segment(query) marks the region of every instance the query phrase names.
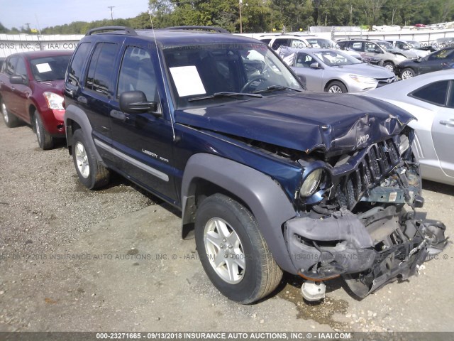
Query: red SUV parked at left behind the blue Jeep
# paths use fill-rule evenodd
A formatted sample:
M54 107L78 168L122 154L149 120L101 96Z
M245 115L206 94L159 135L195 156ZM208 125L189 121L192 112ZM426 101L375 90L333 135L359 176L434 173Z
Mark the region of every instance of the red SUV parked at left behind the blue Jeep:
M0 71L0 107L6 126L33 126L38 144L50 149L65 137L63 80L72 51L45 50L9 55Z

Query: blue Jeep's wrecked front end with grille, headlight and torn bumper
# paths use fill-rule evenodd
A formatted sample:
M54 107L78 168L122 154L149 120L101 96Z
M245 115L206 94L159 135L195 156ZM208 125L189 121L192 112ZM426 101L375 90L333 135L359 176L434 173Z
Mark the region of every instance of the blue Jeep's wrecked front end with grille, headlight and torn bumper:
M284 225L294 266L309 281L343 276L360 298L416 274L445 247L445 226L423 206L419 164L408 127L384 141L323 161L301 158L303 209ZM365 140L365 139L364 139ZM362 137L358 145L362 144ZM315 161L317 160L317 161Z

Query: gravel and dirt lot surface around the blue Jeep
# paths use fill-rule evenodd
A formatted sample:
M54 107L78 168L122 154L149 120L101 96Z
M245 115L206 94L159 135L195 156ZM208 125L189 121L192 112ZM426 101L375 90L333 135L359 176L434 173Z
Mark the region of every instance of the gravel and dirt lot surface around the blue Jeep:
M62 143L0 124L0 331L454 331L452 244L420 276L362 301L340 280L304 303L284 276L255 305L211 286L179 212L117 176L86 190ZM426 183L424 210L453 235L454 188Z

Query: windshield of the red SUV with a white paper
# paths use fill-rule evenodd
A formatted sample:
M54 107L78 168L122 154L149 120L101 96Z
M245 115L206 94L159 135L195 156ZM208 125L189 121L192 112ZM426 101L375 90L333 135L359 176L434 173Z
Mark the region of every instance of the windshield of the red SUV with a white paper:
M32 59L30 66L33 78L38 81L64 80L70 58L71 55L54 55L52 57Z

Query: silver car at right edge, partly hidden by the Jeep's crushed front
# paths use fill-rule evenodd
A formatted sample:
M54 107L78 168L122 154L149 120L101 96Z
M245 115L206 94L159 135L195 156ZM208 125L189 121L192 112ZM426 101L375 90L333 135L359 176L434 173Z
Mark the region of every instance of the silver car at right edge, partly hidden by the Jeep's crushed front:
M397 105L416 117L413 151L421 163L422 177L454 185L454 70L413 77L365 92Z

